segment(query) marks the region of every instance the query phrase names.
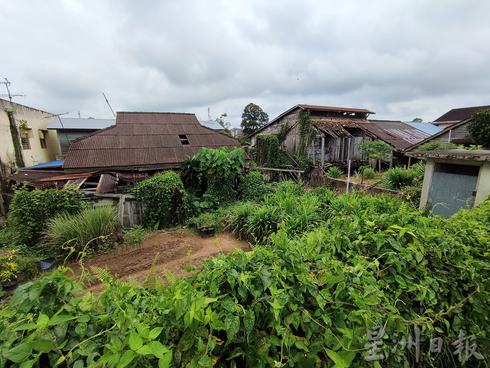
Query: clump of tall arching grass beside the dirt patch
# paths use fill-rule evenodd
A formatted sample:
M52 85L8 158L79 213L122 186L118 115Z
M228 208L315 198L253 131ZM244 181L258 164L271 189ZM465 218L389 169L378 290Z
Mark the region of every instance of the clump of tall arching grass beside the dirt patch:
M98 251L98 246L107 238L113 240L117 222L114 206L87 208L74 215L63 213L49 220L44 234L47 242L54 246L74 246L80 250L89 245Z

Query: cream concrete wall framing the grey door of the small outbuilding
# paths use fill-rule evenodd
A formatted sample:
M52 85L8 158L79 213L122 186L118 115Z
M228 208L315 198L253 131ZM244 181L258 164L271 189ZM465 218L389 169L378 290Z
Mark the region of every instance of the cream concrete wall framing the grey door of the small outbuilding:
M490 162L489 161L427 158L427 162L425 164L425 175L424 175L424 182L422 185L422 193L420 195L420 209L424 208L429 198L432 176L434 174L434 167L437 162L445 163L445 164L480 166L478 180L476 183L476 196L474 198L473 205L475 206L478 203L483 202L490 195ZM448 193L448 196L450 195L451 194Z

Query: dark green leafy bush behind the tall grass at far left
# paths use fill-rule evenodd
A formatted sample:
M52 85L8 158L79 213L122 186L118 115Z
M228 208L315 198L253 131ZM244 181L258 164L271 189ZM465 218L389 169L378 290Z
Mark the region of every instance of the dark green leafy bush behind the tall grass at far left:
M62 212L77 213L85 206L82 197L79 190L72 188L30 191L23 186L15 190L6 227L0 231L0 246L36 245L45 221Z

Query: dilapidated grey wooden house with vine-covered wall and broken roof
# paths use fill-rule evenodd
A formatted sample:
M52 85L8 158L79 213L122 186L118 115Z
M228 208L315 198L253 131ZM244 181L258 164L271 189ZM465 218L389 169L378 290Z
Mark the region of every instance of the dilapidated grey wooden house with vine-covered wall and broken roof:
M349 159L361 162L362 152L356 144L366 141L384 141L403 150L429 136L400 121L368 120L374 112L367 109L296 105L252 133L251 145L255 145L258 135L279 133L282 127L281 149L291 154L300 153L299 114L303 110L309 110L311 127L315 130L314 138L306 143L305 154L322 166L325 163L342 165Z

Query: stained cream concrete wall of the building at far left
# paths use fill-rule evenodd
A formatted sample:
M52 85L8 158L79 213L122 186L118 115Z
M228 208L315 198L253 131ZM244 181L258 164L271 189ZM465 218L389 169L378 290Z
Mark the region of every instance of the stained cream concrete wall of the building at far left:
M28 139L30 149L22 149L25 166L34 166L38 163L53 161L59 153L58 137L53 130L47 130L48 125L53 118L50 113L27 107L15 102L10 102L0 98L0 159L3 165L15 165L14 145L12 143L12 134L10 132L10 122L5 109L14 111L14 117L17 120L24 119L29 127ZM41 148L39 130L45 131L46 146ZM22 147L22 145L21 145ZM33 162L31 156L41 156L39 162ZM10 173L7 173L10 174Z

